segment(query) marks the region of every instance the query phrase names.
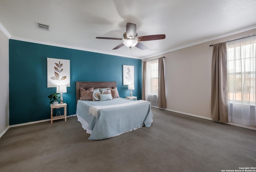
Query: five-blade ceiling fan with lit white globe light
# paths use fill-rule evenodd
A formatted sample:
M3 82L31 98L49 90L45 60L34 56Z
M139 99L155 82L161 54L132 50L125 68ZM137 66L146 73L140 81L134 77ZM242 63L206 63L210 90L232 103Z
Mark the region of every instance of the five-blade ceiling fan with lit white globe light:
M136 33L136 24L133 23L127 23L126 24L126 32L123 34L124 39L122 38L108 38L108 37L96 37L97 39L106 39L106 40L123 40L121 44L117 45L113 49L118 49L124 45L126 47L137 47L139 49L147 49L147 47L140 43L140 41L152 41L152 40L162 40L165 39L165 35L148 35L148 36L139 36L137 37Z

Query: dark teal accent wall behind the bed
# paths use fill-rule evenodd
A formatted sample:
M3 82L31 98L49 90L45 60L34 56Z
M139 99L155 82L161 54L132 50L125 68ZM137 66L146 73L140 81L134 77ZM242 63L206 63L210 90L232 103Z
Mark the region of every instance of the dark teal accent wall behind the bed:
M113 50L114 51L114 50ZM134 96L141 99L141 59L9 40L10 125L50 119L47 57L70 60L70 87L63 93L67 115L76 114L76 81L116 81L120 97L130 95L122 85L122 65L134 66Z

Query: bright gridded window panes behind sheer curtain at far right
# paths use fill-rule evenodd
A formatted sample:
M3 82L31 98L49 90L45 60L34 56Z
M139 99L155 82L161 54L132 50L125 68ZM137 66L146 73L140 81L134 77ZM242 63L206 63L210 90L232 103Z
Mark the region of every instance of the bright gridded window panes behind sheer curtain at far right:
M255 102L256 43L227 43L228 99Z

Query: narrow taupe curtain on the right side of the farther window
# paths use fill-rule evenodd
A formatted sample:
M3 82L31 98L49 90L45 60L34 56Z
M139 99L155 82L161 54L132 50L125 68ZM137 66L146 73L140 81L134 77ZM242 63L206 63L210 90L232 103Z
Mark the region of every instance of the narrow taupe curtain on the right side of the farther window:
M166 108L165 81L164 81L164 57L158 59L158 107Z

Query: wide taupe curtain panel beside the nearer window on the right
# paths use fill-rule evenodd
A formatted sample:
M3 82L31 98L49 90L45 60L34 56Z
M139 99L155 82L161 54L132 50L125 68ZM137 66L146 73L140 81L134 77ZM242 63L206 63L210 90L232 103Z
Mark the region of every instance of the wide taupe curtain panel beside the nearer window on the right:
M213 121L228 122L226 42L213 45L211 113Z

